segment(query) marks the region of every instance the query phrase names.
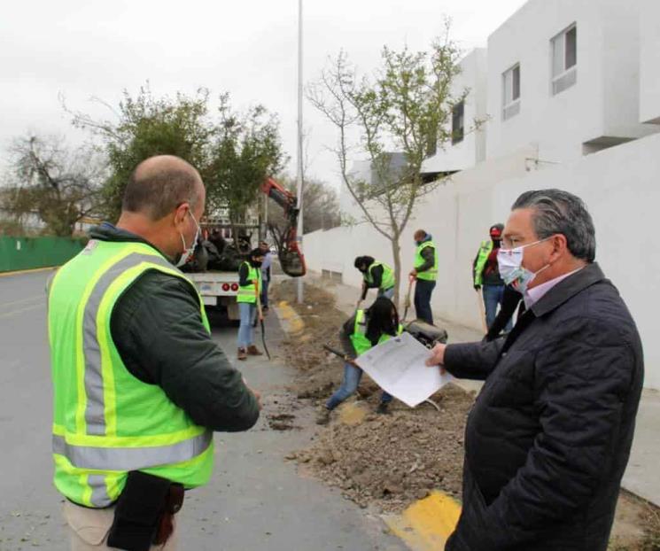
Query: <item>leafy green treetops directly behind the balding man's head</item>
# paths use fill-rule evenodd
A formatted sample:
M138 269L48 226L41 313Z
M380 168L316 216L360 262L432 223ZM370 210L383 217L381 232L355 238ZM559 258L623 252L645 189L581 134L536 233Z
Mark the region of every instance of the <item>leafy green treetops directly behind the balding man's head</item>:
M206 184L207 211L229 206L240 221L260 183L281 167L279 124L262 106L234 113L229 95L220 98L218 117L210 113L209 92L154 97L149 86L136 97L124 91L117 120L74 114L74 125L101 136L111 168L104 185L105 216L119 216L121 198L133 169L153 155L176 155L196 167ZM112 107L111 107L112 109Z

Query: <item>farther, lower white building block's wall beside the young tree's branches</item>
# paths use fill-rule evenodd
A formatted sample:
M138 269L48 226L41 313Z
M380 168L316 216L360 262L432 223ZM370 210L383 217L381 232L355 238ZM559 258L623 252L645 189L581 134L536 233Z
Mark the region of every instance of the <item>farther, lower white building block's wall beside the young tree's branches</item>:
M468 91L463 112L465 136L458 144L444 144L444 149L426 159L423 172L454 172L474 167L485 159L485 130L475 127L476 121L484 120L486 116L486 63L485 48L470 51L459 63L461 74L452 82L451 94L460 97L465 90ZM452 131L451 117L446 131Z

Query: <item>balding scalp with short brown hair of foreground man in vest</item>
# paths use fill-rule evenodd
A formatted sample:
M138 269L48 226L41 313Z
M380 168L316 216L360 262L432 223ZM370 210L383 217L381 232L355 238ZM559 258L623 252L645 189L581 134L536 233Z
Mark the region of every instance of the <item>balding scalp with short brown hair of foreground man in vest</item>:
M194 209L203 193L204 183L190 163L173 155L159 155L137 165L128 178L121 209L157 221L182 203L190 203Z

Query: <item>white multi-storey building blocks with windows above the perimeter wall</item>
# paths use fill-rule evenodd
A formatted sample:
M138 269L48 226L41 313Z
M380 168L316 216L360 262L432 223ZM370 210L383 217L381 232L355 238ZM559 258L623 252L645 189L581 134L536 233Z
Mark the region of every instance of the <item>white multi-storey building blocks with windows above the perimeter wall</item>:
M660 2L530 0L462 59L465 138L424 164L453 172L532 147L536 167L655 134ZM487 120L470 132L474 120ZM454 120L455 126L455 120ZM455 131L455 128L454 128Z

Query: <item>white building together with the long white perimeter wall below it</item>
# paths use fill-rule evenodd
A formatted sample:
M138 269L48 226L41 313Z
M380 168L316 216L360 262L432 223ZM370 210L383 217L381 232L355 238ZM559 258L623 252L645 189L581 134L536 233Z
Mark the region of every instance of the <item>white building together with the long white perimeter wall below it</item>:
M485 136L466 131L427 159L429 173L455 174L415 206L400 239L404 270L416 228L441 238L432 307L480 330L471 266L489 226L506 221L526 190L569 190L589 207L596 260L640 330L644 384L660 390L652 300L660 296L652 276L660 270L660 0L530 0L462 68L454 93L470 89L463 128L486 113ZM369 224L317 231L305 243L311 270L339 272L356 287L355 256L393 260L389 241Z

